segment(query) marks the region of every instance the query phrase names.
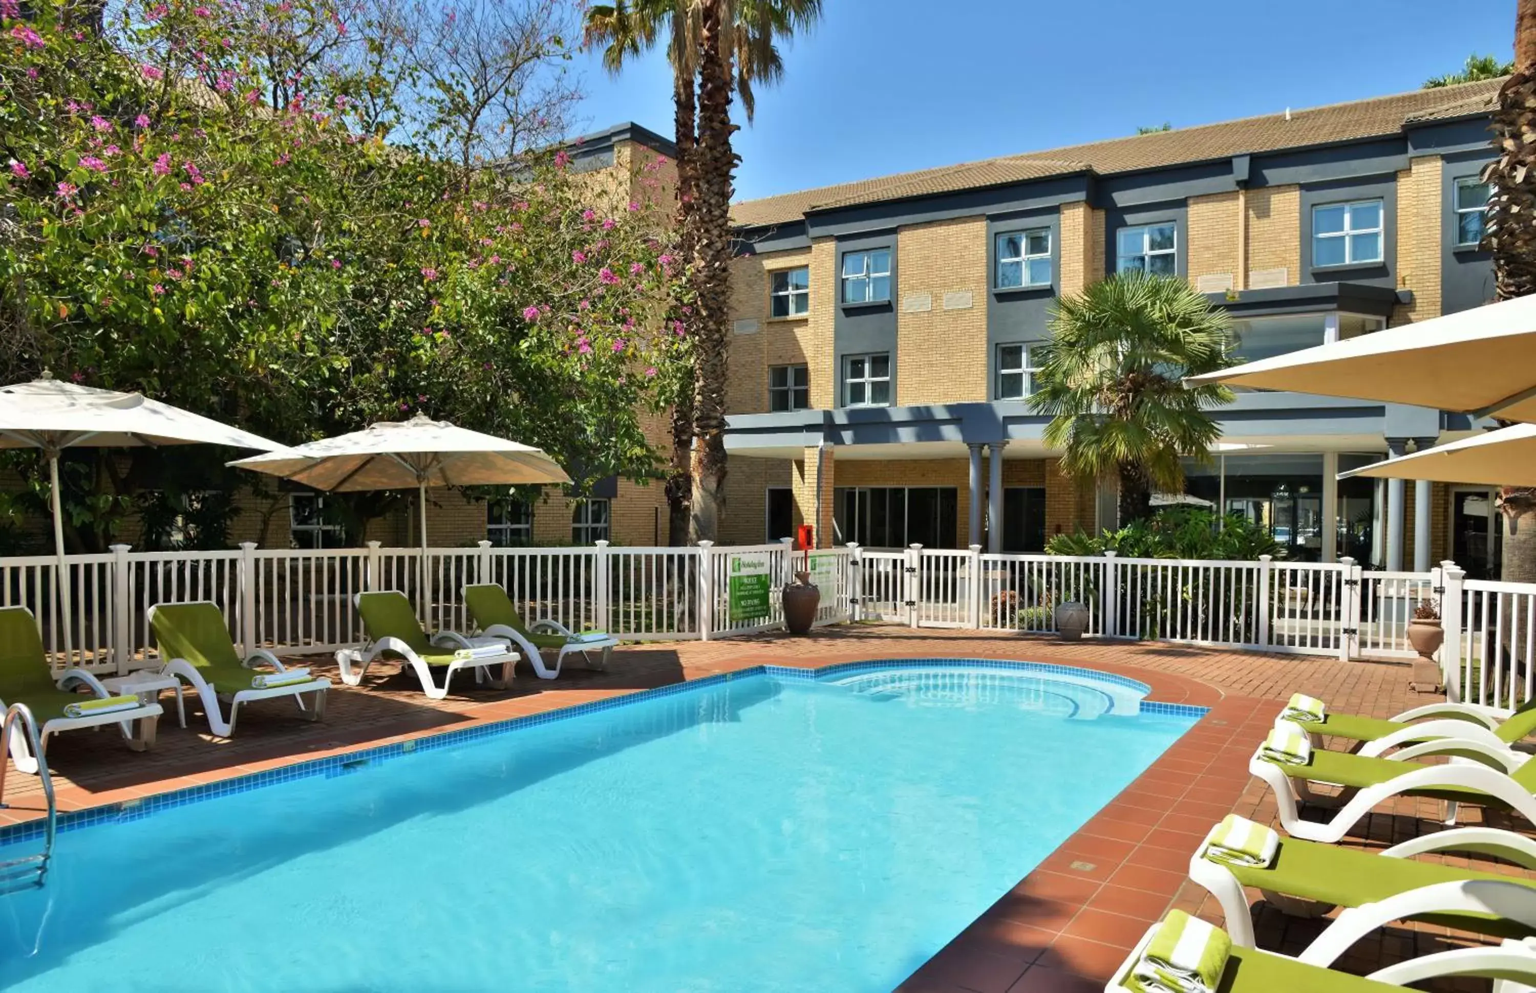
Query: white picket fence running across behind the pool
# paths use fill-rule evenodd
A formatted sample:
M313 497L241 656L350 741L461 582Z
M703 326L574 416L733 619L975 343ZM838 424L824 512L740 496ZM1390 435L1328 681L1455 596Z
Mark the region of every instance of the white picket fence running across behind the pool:
M1407 625L1435 603L1439 661L1459 698L1518 706L1536 685L1536 585L1467 580L1455 563L1430 572L1338 563L1206 562L969 549L900 551L856 545L803 557L788 543L693 548L260 549L69 556L74 665L129 671L154 665L144 611L212 600L244 646L326 652L362 640L353 605L367 589L399 589L432 628L470 626L468 583L499 583L530 620L610 631L624 640L714 638L783 625L780 588L809 566L822 589L816 623L882 620L912 628L1048 634L1055 608L1087 608L1089 637L1332 655L1413 658ZM63 623L49 556L0 559L0 606L38 617L55 665ZM748 592L751 591L751 592Z

